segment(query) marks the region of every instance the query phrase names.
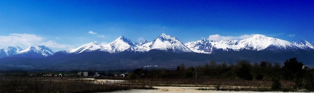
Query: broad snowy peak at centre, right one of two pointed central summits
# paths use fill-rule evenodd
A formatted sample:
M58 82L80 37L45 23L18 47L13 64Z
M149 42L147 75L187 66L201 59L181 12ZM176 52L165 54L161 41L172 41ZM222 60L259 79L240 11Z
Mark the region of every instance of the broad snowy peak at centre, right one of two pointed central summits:
M149 47L150 49L166 50L172 52L192 52L177 38L166 35L165 33L157 37Z

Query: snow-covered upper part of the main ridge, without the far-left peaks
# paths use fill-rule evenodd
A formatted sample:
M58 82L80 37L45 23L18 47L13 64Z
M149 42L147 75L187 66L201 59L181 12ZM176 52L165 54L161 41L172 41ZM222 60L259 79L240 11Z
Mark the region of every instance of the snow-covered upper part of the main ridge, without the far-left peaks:
M195 52L212 54L215 50L222 49L223 51L241 51L241 50L275 50L275 51L296 51L298 49L313 50L314 43L306 40L300 42L288 42L285 40L267 37L265 35L254 35L251 38L244 40L233 41L209 41L202 39L195 42L183 44L177 38L166 34L161 34L153 41L143 41L133 43L124 36L120 36L110 44L101 45L98 42L92 42L81 47L69 50L63 50L66 53L82 53L92 51L105 51L110 53L120 53L123 51L130 52L148 52L150 50L163 50L177 53Z

